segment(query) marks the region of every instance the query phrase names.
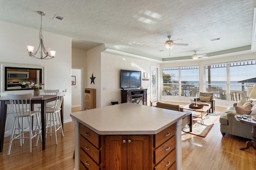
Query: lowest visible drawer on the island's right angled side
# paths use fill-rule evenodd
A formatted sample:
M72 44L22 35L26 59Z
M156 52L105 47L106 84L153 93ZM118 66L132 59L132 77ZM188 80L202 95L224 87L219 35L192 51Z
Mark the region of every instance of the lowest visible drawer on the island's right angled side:
M176 170L176 149L172 150L165 158L159 162L154 170Z

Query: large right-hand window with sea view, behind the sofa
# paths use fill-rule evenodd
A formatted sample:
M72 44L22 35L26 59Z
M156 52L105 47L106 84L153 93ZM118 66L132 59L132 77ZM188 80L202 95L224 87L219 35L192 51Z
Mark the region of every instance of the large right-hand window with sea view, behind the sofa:
M239 101L247 98L248 87L256 82L256 61L205 66L206 92L220 100Z

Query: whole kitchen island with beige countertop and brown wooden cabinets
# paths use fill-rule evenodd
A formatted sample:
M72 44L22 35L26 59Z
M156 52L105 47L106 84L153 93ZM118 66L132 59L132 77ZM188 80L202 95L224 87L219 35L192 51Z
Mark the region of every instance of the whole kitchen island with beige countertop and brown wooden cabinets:
M71 113L75 170L182 169L186 113L123 103Z

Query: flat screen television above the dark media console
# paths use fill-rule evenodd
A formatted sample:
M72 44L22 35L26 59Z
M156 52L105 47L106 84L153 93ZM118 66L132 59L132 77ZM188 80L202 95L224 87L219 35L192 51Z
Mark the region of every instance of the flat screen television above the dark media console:
M121 70L121 88L138 88L141 86L141 71Z

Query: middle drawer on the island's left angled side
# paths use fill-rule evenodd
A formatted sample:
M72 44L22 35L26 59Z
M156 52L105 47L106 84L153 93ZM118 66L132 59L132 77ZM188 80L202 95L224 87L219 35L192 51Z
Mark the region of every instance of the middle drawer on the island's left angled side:
M80 135L80 147L98 164L100 164L100 150Z

